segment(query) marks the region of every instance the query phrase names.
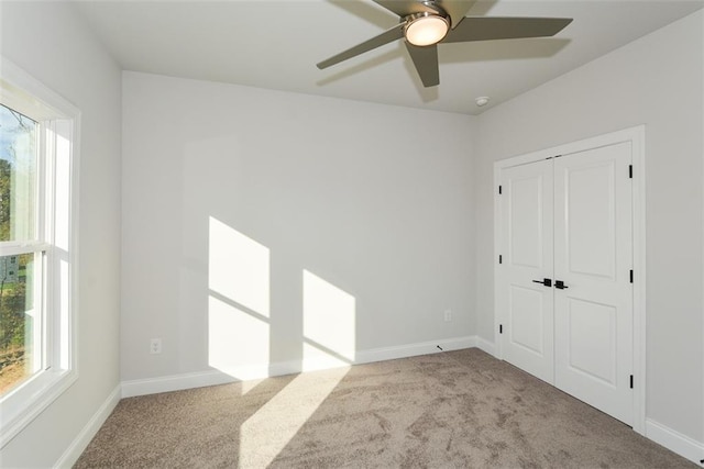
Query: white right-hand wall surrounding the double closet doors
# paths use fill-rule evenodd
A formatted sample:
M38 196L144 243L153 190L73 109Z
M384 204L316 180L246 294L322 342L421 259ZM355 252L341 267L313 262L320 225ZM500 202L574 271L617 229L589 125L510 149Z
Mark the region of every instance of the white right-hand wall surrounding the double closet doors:
M485 112L474 178L477 333L493 340L494 161L646 124L647 417L698 442L704 442L702 30L698 12Z

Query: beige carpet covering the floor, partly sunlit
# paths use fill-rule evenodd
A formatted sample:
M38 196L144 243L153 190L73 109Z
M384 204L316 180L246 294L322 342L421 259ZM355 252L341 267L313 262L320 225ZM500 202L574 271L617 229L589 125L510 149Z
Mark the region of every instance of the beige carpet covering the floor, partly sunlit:
M696 466L466 349L124 399L76 467Z

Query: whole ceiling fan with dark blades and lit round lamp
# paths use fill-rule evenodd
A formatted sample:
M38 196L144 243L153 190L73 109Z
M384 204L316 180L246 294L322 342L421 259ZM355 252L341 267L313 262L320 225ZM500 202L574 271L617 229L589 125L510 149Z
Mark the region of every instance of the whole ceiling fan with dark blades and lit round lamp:
M403 37L424 86L435 87L440 83L439 43L553 36L572 22L571 18L465 16L476 0L373 1L396 13L400 22L369 41L322 60L317 64L318 68L328 68Z

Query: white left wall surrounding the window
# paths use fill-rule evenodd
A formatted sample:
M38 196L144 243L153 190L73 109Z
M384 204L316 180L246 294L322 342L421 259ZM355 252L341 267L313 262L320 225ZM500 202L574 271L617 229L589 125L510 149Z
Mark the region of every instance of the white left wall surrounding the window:
M3 467L48 467L119 381L120 70L58 2L2 2L0 53L81 111L79 378L0 453Z

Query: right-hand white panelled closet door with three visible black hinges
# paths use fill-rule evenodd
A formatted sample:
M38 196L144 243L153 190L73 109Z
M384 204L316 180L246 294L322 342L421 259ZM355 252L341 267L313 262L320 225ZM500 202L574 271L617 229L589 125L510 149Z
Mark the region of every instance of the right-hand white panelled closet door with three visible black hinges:
M629 425L630 155L626 142L554 159L556 386Z

